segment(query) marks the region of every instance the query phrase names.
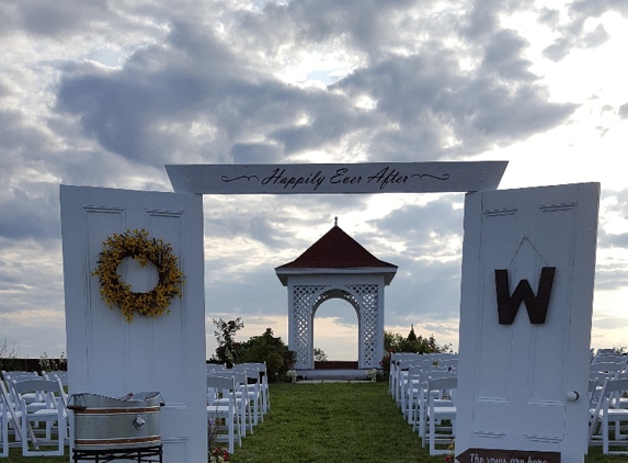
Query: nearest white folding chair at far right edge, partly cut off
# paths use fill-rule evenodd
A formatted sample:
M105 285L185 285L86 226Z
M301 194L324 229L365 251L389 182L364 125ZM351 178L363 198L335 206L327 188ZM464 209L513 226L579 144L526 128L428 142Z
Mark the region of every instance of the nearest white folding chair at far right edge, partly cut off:
M628 454L628 434L623 434L621 422L628 421L628 409L621 408L619 398L628 391L628 379L616 380L607 377L604 380L600 400L589 428L589 443L600 444L602 442L602 453L607 454ZM597 425L600 424L600 434L596 434ZM613 426L614 436L610 431ZM621 448L621 450L612 451L610 448Z

